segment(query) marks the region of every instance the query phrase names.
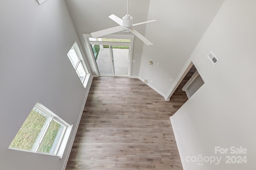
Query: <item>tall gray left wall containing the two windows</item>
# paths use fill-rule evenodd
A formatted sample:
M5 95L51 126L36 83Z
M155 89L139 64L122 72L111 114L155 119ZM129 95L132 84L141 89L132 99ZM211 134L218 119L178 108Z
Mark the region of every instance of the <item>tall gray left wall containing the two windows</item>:
M88 92L67 57L79 39L65 1L2 0L0 21L0 169L60 170ZM8 149L36 102L74 124L62 159Z

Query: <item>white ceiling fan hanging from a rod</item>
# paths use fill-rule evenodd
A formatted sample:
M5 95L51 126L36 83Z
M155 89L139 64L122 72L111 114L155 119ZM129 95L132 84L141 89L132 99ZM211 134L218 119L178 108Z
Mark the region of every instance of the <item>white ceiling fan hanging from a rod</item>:
M139 39L141 39L146 45L153 45L150 41L148 41L148 39L146 39L138 31L133 29L132 26L141 25L141 24L145 24L145 23L150 23L150 22L154 22L154 21L157 21L157 20L150 20L150 21L145 21L145 22L140 22L140 23L133 24L132 23L133 18L132 18L132 16L130 16L128 14L128 4L129 4L129 0L127 0L127 14L122 19L119 18L118 16L114 15L114 14L112 14L111 16L108 16L110 19L112 19L113 21L118 23L119 26L108 28L108 29L103 29L101 31L93 32L93 33L91 33L92 37L93 38L98 38L98 37L102 37L104 35L116 33L116 32L119 32L119 31L132 32Z

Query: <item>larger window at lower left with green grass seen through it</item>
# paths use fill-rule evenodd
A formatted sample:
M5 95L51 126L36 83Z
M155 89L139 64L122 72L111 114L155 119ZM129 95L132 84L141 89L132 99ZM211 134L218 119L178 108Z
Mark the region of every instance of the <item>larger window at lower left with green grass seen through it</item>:
M66 123L36 104L9 148L56 155L66 128Z

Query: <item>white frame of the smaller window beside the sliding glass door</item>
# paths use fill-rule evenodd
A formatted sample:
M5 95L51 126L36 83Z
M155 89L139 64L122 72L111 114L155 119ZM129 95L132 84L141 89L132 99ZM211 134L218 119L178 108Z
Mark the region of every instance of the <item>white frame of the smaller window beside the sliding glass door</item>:
M72 45L71 49L72 49L72 48L73 48L74 51L75 51L75 54L76 54L76 57L78 58L78 61L77 61L77 63L76 63L75 65L73 65L73 63L72 63L72 61L71 61L71 57L70 57L70 55L69 55L69 52L68 52L68 54L67 54L67 55L68 55L68 59L70 60L72 66L74 66L74 69L76 70L76 74L78 75L79 79L80 79L80 76L79 76L79 73L78 73L77 68L78 68L79 64L82 64L82 68L83 68L83 70L84 70L84 72L85 72L85 76L84 76L84 78L83 78L82 80L80 79L80 81L81 81L82 84L84 85L84 88L86 88L86 85L87 85L87 83L88 83L90 74L89 74L89 72L88 72L88 69L87 69L86 64L85 64L85 62L84 62L84 60L83 60L83 57L82 57L82 53L81 53L81 51L80 51L80 49L79 49L78 44L77 44L76 41L75 41L74 44ZM71 49L70 49L70 50L71 50Z

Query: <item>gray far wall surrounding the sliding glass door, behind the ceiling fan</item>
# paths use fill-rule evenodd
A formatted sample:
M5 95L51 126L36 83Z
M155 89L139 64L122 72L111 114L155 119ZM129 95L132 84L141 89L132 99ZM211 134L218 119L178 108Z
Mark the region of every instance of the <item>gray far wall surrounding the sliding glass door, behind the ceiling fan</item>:
M115 14L122 18L126 15L127 10L126 0L66 0L66 3L83 47L86 46L82 36L83 33L91 33L117 26L118 24L108 18L108 16ZM150 0L129 1L129 14L133 17L134 23L147 20L149 3ZM144 35L146 25L138 25L134 28ZM124 33L122 31L114 34L133 35L132 33ZM134 37L133 60L136 60L136 63L132 63L132 76L138 77L139 75L142 48L143 42ZM85 48L84 51L86 56L89 57L90 52ZM92 66L91 69L93 74L95 74Z

